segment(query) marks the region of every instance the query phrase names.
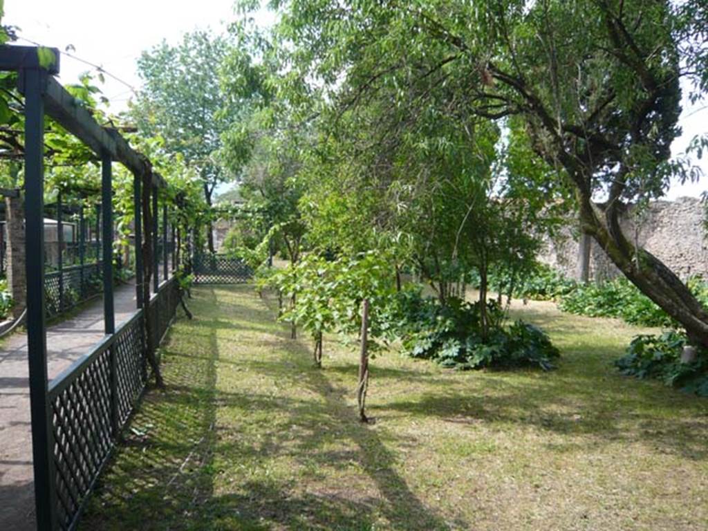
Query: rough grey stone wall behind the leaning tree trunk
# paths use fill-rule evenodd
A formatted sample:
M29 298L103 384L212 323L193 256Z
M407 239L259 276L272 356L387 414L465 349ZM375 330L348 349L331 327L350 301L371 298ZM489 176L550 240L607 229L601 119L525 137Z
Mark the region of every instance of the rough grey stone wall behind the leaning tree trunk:
M635 215L632 210L627 212L622 219L622 227L628 238L636 238L640 246L661 259L680 278L694 275L708 278L704 209L705 205L697 198L655 201L641 215ZM547 241L539 259L561 270L569 278L578 278L578 251L578 229L569 225L561 237ZM590 278L603 280L617 275L619 270L593 240Z

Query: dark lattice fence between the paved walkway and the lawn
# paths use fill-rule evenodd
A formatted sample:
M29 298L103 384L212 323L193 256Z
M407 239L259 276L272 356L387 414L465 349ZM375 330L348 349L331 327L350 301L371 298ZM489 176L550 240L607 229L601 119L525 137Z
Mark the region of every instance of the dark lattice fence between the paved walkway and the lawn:
M152 297L157 343L176 313L178 284L164 282ZM144 312L138 310L112 336L52 381L52 454L59 529L72 530L86 496L115 447L147 382L142 341Z

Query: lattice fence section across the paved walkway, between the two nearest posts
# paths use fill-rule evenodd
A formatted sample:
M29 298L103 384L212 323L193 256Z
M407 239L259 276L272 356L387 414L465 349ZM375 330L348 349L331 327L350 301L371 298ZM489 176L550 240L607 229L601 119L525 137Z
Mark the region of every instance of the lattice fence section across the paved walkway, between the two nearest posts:
M61 273L45 273L47 314L55 316L101 293L101 263L73 265Z

